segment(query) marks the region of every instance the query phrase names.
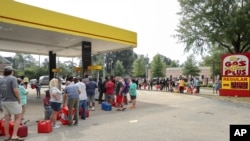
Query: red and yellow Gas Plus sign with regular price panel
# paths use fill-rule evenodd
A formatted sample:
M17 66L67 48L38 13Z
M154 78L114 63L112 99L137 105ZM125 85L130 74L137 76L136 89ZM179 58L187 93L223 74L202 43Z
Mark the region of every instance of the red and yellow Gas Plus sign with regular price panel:
M250 96L250 53L222 55L220 95Z

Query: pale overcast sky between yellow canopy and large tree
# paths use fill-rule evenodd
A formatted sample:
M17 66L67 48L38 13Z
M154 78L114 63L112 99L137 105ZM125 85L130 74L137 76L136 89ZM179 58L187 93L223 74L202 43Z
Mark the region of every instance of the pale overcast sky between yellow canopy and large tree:
M179 22L177 0L18 0L33 6L137 32L137 54L157 53L186 60L182 44L171 37ZM1 53L2 54L2 53Z

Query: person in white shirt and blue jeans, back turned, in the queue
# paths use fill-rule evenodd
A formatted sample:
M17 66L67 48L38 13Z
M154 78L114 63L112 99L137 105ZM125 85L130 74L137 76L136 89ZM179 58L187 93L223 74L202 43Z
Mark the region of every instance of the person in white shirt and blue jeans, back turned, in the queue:
M79 95L79 109L82 109L81 119L85 120L87 115L87 92L85 83L79 81L78 78L74 79L75 84L78 86L78 89L81 91Z

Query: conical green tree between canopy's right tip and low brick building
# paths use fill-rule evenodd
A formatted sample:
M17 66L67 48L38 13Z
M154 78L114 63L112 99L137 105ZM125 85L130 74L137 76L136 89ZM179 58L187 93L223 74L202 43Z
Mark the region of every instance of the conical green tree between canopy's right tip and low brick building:
M166 76L166 63L160 54L154 56L151 62L152 77L164 77Z

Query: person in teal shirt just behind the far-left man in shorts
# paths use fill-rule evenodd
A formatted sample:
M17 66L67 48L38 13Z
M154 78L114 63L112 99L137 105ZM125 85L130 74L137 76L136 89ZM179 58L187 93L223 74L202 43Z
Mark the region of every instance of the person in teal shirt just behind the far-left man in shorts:
M22 105L22 120L23 120L24 119L24 113L25 113L25 105L27 104L28 91L25 90L25 88L22 86L22 81L23 80L21 78L17 78L18 90L19 90L21 105Z

